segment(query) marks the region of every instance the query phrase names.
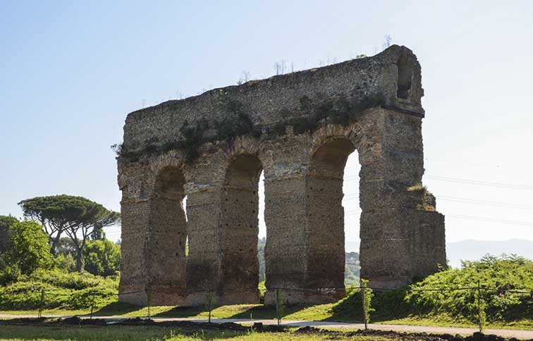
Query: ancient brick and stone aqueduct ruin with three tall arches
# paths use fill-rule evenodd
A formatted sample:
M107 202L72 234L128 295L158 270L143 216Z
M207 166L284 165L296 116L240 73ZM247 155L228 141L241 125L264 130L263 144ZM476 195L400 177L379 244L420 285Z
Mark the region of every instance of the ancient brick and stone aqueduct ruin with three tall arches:
M419 184L417 58L391 46L128 115L118 156L121 301L257 303L264 171L267 304L345 295L343 173L358 151L361 276L398 287L446 264L444 216ZM418 185L418 186L417 186ZM187 196L187 207L183 204ZM188 255L185 241L188 239Z

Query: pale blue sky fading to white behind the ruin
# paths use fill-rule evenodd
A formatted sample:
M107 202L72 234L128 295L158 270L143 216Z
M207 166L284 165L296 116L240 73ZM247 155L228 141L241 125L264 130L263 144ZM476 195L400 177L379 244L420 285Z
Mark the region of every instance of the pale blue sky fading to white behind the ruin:
M119 210L109 146L128 112L233 85L243 70L269 77L282 59L303 69L372 55L391 35L422 63L424 183L448 241L533 240L533 1L430 2L1 1L0 214L61 193ZM345 193L357 194L357 181ZM357 241L357 214L346 221Z

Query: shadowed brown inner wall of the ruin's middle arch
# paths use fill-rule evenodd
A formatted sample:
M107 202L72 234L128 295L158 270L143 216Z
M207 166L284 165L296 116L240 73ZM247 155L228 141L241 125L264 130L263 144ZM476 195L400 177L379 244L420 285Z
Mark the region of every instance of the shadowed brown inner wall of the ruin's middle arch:
M257 156L235 156L226 171L221 220L222 302L259 302L259 177L262 163Z

